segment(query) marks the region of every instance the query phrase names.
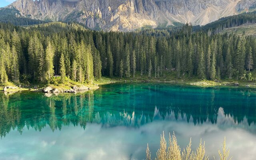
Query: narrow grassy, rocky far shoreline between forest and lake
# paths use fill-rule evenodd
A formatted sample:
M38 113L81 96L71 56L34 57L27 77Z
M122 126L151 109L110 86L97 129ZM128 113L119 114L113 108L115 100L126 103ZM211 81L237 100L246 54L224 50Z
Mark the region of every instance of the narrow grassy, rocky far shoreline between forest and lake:
M16 92L22 91L30 91L30 92L42 92L45 93L46 96L52 96L53 94L58 95L61 93L84 93L90 90L94 91L100 88L102 85L112 84L112 83L162 83L162 84L177 84L182 86L194 86L200 88L241 88L241 89L256 89L256 83L254 82L239 82L239 81L223 81L223 82L214 82L210 80L160 80L160 79L136 79L136 78L100 78L96 79L92 84L76 84L76 85L58 85L55 86L54 84L45 85L43 87L38 87L37 84L31 84L27 87L18 87L18 86L1 86L0 92L4 92L7 94L13 94ZM84 87L87 89L82 90L74 90L74 87ZM4 91L4 88L7 87L7 90ZM9 87L9 88L8 88ZM49 91L44 92L45 88L52 88ZM54 90L57 90L57 92ZM48 95L47 95L48 94Z

